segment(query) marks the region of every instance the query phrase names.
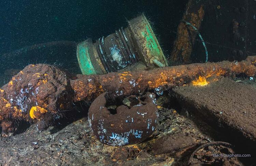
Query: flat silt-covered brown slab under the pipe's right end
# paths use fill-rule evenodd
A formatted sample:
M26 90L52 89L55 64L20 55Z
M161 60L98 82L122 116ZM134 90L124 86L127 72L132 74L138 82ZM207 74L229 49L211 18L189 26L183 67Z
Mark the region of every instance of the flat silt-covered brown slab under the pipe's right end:
M222 78L200 88L175 87L171 94L183 109L225 133L225 141L246 147L247 153L255 153L256 88L253 85Z

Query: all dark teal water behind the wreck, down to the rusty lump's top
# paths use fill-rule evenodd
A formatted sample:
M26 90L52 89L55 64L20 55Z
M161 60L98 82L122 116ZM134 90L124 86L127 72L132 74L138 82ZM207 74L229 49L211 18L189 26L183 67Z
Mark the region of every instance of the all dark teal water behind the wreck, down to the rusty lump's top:
M24 51L51 41L95 41L144 13L168 58L188 0L1 0L0 85L28 64L47 63L81 73L76 45ZM18 51L17 51L18 50Z

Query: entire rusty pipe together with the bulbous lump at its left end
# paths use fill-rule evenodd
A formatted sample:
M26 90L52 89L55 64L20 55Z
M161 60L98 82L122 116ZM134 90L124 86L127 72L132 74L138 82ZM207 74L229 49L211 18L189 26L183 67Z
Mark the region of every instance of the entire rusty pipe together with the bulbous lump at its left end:
M115 98L174 86L205 85L219 76L256 74L256 56L241 62L196 63L153 70L112 72L105 75L71 75L55 66L28 65L0 89L3 132L15 130L15 120L38 122L39 130L73 109L73 103L91 102L104 92Z

